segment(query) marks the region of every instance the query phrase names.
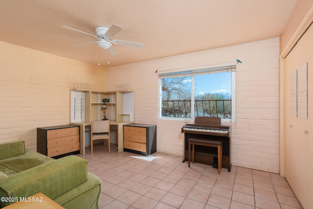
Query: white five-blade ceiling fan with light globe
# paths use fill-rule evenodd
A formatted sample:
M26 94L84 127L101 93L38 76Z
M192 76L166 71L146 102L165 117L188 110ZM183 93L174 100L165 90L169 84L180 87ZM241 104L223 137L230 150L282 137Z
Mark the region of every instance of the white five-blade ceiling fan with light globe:
M80 32L80 33L83 33L83 34L86 34L86 35L89 35L89 36L91 36L93 38L98 39L98 41L87 42L87 43L84 43L84 44L75 45L73 47L96 43L97 46L99 46L100 48L108 49L111 55L116 55L117 54L117 51L112 46L112 44L124 45L124 46L132 46L132 47L136 47L136 48L141 48L142 47L142 44L135 43L135 42L115 40L115 39L111 40L111 38L116 33L118 33L119 31L121 31L123 29L122 27L118 26L117 24L112 24L110 28L107 28L107 27L96 27L95 28L96 35L92 35L90 33L86 33L84 31L77 30L75 28L71 28L71 27L68 27L68 26L65 26L65 25L62 25L62 27L65 27L67 29L74 30L76 32Z

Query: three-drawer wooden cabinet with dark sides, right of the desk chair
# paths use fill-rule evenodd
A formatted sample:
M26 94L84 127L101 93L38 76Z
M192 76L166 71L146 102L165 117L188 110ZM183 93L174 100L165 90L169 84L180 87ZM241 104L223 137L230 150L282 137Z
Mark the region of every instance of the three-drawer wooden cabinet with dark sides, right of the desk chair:
M145 156L156 152L156 125L124 125L124 151Z

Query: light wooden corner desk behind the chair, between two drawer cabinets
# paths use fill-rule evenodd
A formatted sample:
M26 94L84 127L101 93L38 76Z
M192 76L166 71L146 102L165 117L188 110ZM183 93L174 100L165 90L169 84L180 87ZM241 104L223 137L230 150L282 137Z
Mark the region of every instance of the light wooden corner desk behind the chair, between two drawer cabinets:
M112 127L112 126L117 127L117 152L123 152L124 151L123 126L128 125L128 124L132 124L132 123L134 123L134 122L110 120L110 127ZM80 154L85 155L86 126L90 126L91 122L89 122L89 121L71 122L70 124L80 126Z

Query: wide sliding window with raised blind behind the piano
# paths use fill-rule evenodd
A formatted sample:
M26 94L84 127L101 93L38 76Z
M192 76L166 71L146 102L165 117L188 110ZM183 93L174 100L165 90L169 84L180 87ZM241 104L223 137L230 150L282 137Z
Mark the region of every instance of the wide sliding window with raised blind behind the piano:
M221 117L234 121L236 66L159 73L160 118Z

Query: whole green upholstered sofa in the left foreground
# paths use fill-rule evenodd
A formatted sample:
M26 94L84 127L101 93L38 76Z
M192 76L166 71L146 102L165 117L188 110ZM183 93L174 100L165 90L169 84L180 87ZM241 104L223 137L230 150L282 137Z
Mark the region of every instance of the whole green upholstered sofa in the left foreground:
M24 141L0 144L0 197L15 201L38 192L65 209L98 209L101 180L77 156L54 160L25 149ZM0 208L13 203L0 201Z

